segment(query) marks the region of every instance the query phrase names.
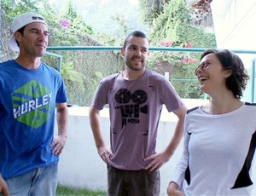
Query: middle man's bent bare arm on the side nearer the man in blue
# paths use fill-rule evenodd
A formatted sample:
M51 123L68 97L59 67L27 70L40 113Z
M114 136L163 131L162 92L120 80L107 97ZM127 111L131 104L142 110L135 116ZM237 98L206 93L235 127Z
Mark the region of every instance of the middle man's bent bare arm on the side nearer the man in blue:
M108 164L109 157L112 156L113 153L110 151L109 147L107 147L102 137L100 110L91 106L89 111L89 118L90 128L95 139L97 151L102 160Z

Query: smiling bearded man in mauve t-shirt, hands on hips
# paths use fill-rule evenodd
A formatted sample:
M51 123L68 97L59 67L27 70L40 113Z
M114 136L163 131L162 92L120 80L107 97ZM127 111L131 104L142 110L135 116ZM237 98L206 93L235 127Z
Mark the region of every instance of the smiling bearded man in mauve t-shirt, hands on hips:
M183 137L186 107L172 84L145 67L148 38L132 32L121 49L125 71L102 79L90 107L90 125L102 160L108 164L109 195L159 195L160 167ZM111 148L102 138L100 111L108 104ZM177 115L177 127L168 147L156 153L162 105Z

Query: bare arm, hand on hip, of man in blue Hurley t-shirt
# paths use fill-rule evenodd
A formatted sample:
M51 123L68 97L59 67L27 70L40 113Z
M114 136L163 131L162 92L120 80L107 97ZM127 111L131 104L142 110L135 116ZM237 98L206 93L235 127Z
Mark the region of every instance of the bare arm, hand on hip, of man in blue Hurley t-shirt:
M68 118L67 104L66 103L56 104L56 120L57 120L57 126L58 126L58 135L55 136L54 141L50 145L50 147L53 147L52 153L54 153L55 155L61 154L67 140L67 118Z

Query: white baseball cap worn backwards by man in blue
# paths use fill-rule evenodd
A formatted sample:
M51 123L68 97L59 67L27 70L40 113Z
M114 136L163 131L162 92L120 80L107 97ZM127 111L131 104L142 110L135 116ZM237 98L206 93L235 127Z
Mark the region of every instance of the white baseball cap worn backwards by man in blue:
M15 41L15 32L17 32L20 28L23 26L26 26L32 22L41 22L44 23L46 26L46 22L44 20L44 17L40 14L36 13L25 13L25 14L20 14L18 15L15 20L14 20L14 25L13 25L13 34L11 35L9 39L9 48L13 49L15 51L20 51L19 46L17 45Z

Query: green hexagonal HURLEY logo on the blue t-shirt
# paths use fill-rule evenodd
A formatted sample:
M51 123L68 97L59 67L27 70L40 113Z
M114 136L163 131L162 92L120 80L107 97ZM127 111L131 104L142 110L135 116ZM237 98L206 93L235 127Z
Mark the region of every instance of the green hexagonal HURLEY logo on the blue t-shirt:
M32 80L12 93L14 118L37 129L49 118L52 92Z

